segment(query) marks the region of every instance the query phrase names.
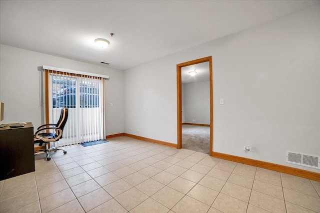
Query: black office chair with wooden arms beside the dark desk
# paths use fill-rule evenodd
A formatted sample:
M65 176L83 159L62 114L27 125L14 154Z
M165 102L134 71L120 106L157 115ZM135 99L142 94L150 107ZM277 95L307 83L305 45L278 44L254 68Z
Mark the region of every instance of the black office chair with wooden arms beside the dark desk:
M58 150L62 150L63 153L66 154L66 151L63 149L58 149L57 147L48 148L48 143L58 141L60 138L62 138L63 128L67 118L68 118L68 108L65 107L61 109L60 118L56 124L44 124L37 128L37 131L35 132L35 135L33 137L33 141L34 143L39 143L39 146L42 146L44 143L45 149L39 149L34 151L34 155L45 152L46 160L49 161L51 160L49 155L49 152L51 151L56 152ZM48 130L55 130L55 131L47 132Z

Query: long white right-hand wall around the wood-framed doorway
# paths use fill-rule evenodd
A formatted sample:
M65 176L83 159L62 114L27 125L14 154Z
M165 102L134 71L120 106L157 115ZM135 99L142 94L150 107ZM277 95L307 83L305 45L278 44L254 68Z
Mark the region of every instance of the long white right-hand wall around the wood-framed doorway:
M320 155L319 26L316 5L125 70L124 131L176 143L176 64L211 55L213 151L319 172L285 163Z

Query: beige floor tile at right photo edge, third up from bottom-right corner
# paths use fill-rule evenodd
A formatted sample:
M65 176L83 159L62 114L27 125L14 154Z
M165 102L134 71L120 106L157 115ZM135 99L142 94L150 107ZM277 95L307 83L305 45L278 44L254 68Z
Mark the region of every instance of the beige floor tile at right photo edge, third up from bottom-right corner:
M287 179L282 177L282 187L319 198L318 194L311 184L303 184L302 182L297 182L295 180L296 179Z

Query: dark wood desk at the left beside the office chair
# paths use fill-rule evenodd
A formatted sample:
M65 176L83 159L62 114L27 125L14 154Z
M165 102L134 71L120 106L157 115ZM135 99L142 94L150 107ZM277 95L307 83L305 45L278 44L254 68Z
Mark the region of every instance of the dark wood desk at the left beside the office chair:
M0 128L0 181L34 172L32 123L20 128L9 125Z

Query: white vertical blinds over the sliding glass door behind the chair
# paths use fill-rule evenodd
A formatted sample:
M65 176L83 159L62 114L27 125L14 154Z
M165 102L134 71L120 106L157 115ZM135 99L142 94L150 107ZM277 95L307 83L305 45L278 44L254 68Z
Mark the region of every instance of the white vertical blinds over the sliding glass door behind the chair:
M54 124L63 107L68 119L63 138L53 146L66 146L103 139L103 79L81 74L44 70L46 120Z

